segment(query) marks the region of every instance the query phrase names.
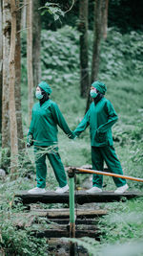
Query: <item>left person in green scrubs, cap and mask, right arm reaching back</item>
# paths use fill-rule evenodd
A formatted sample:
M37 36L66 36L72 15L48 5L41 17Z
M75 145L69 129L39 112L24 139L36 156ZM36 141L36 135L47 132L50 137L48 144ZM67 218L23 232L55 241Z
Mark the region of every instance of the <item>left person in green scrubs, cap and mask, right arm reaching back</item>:
M41 81L35 92L38 103L33 105L31 112L31 127L28 132L27 147L34 146L37 186L29 191L30 194L45 193L48 156L59 187L56 193L65 193L69 190L67 177L57 148L57 125L73 138L72 130L68 127L61 111L53 101L49 99L50 85Z

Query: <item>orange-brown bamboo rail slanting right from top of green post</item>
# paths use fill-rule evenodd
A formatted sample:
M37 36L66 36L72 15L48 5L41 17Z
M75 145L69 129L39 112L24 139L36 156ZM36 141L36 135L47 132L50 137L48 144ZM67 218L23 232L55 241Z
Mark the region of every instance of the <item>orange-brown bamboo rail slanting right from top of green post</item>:
M127 176L127 175L117 175L117 174L111 174L111 173L106 173L106 172L102 172L102 171L82 169L82 168L72 168L72 170L87 173L87 174L107 175L107 176L121 177L121 178L125 178L125 179L143 182L143 178L139 178L139 177L133 177L133 176Z

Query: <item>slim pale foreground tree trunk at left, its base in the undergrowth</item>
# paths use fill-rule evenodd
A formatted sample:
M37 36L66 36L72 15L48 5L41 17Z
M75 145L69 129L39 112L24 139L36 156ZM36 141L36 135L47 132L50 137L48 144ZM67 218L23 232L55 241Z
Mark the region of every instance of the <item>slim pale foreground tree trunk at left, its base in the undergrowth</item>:
M15 42L16 42L16 6L10 0L11 34L10 34L10 173L15 176L18 161L17 121L15 109Z

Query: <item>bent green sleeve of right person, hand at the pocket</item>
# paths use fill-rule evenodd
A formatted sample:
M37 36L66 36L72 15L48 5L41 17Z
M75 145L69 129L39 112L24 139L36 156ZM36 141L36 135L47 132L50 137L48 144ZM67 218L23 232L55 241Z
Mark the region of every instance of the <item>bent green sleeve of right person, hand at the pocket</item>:
M106 108L107 114L108 114L108 121L104 125L100 126L97 129L97 132L104 133L106 132L109 128L112 128L112 126L115 124L117 121L118 117L117 114L111 104L110 101L107 102L107 108Z

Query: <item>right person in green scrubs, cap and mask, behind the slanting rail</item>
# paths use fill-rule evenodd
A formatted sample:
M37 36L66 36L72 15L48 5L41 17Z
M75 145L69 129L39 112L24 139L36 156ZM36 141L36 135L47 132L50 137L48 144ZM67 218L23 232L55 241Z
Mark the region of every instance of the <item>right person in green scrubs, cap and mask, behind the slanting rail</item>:
M94 81L91 87L92 104L81 123L75 128L73 134L79 136L90 126L92 144L92 169L103 171L104 161L114 174L123 175L121 164L116 156L112 141L112 126L118 117L109 100L104 95L106 85L101 81ZM122 194L128 189L126 180L112 177L117 187L116 194ZM92 188L87 193L102 192L103 175L92 175Z

